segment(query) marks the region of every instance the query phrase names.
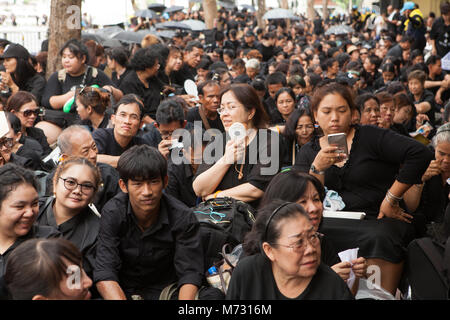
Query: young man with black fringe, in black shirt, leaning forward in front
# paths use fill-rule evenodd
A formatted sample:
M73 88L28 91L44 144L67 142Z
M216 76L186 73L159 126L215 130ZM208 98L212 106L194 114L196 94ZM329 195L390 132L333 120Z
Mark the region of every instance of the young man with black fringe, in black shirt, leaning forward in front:
M107 300L158 299L176 283L180 300L194 299L205 271L199 223L191 209L163 193L166 160L155 148L134 146L117 168L123 192L105 205L100 220L99 293Z

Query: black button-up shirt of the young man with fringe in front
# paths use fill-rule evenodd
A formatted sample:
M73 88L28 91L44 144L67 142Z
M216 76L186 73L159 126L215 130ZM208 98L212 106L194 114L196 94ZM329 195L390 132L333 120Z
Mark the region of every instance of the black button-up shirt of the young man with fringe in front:
M102 210L94 282L116 281L127 294L157 299L171 283L202 284L203 246L191 209L163 194L157 221L144 232L128 194L119 193Z

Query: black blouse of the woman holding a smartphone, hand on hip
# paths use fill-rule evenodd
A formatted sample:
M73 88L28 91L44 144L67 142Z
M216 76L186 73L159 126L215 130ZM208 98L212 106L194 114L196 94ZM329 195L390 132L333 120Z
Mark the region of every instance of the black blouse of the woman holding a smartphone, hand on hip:
M377 217L381 202L395 180L419 184L433 154L423 144L392 130L355 126L350 155L342 168L325 171L325 186L339 193L346 211L362 211ZM305 144L296 158L296 168L309 172L320 151L319 137Z

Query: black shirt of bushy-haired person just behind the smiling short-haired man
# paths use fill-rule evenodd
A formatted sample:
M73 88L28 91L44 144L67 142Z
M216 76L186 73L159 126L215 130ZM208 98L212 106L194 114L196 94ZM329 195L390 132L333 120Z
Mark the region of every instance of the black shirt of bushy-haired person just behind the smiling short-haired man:
M130 72L120 84L120 90L123 94L134 93L144 102L144 116L148 115L155 119L156 110L158 110L161 101L162 84L158 78L147 79L148 88L139 80L136 71Z

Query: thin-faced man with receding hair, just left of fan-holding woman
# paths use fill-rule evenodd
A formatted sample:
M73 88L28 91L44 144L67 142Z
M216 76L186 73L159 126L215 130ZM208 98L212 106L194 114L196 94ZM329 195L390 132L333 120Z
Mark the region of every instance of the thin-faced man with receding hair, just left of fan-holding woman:
M205 130L218 129L225 132L225 129L217 113L220 107L220 86L217 81L208 80L198 85L198 97L200 106L189 109L187 121L194 124L201 121Z

